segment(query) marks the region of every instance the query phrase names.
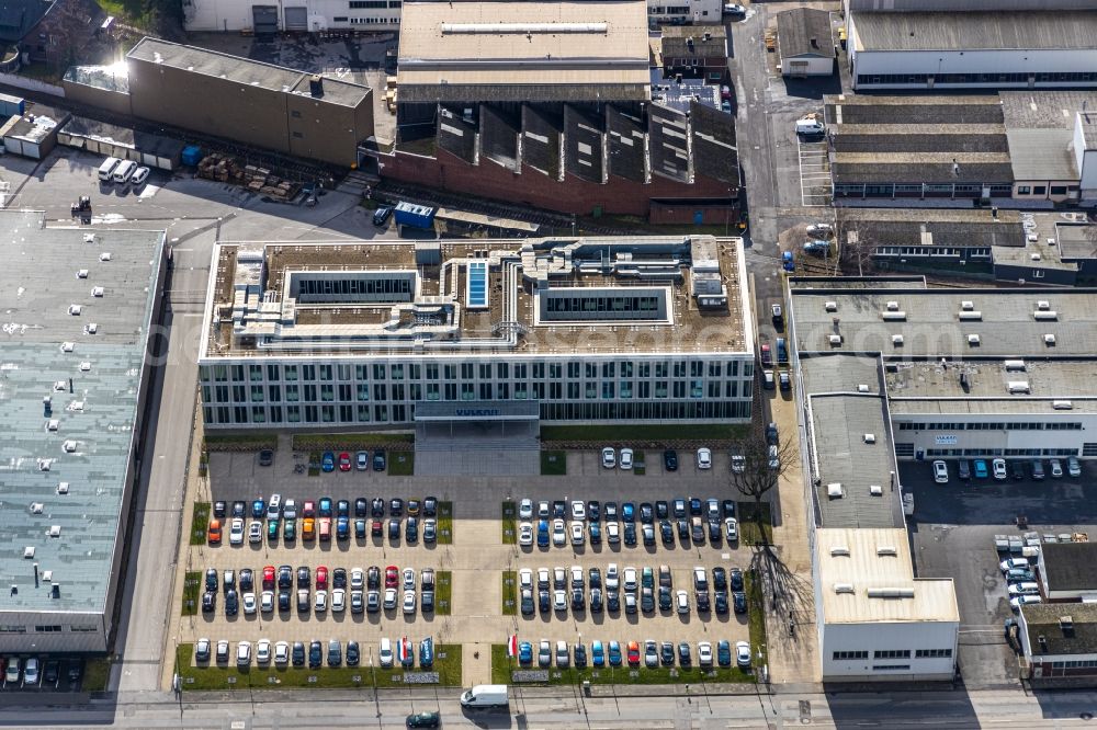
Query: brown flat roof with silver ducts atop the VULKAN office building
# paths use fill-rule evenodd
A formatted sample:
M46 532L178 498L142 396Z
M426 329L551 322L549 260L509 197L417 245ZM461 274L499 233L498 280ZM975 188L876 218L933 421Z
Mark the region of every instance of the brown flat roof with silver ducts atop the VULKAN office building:
M225 243L202 355L748 353L746 290L737 238Z

